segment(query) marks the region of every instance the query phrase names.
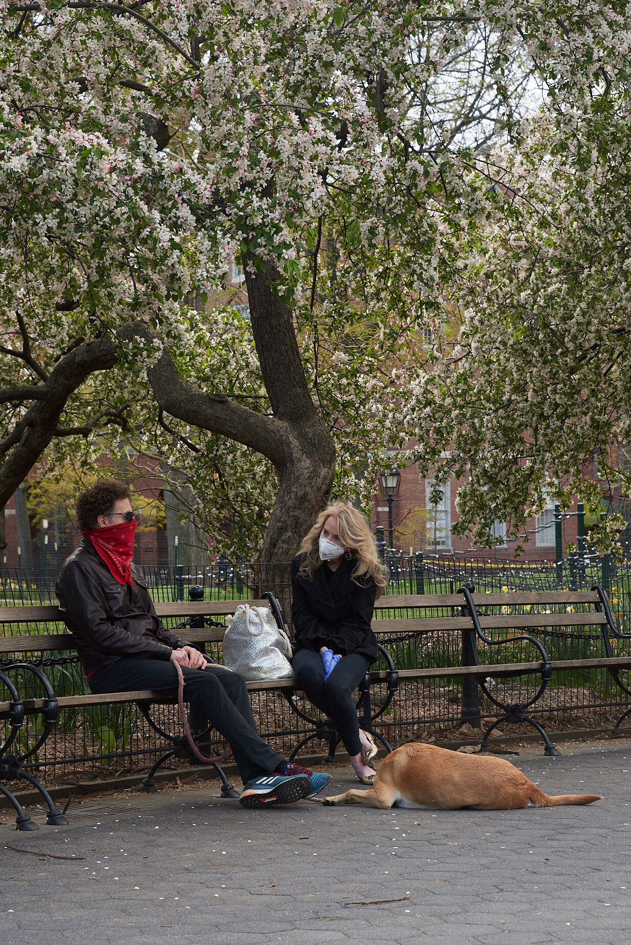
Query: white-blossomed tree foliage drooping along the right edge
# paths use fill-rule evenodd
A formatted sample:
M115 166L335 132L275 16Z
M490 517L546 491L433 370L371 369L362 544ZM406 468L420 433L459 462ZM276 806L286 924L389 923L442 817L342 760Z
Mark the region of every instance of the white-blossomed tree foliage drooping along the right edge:
M483 545L497 519L523 541L549 498L594 508L631 487L628 19L593 5L529 26L545 103L472 171L496 186L452 272L460 327L406 421L420 466L465 480L457 527ZM622 526L591 533L601 552Z

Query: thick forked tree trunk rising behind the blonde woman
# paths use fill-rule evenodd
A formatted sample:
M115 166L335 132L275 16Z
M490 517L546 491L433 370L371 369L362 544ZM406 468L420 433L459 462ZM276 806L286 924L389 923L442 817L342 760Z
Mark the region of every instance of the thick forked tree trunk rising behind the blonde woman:
M327 502L335 448L309 392L291 308L272 289L279 273L268 263L264 272L253 278L247 272L248 262L250 258L245 256L252 334L273 415L255 413L232 403L226 394L204 393L187 384L166 349L147 376L156 401L172 417L245 443L274 464L279 490L261 560L264 564L286 564ZM143 322L120 334L141 335L147 341L157 337ZM270 573L263 583L275 581Z

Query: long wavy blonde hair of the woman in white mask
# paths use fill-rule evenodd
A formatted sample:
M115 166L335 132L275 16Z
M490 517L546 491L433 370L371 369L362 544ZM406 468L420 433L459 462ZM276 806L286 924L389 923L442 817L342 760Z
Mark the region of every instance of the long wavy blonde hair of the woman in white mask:
M384 593L387 580L384 565L377 555L374 536L364 515L345 502L336 502L320 512L314 526L302 539L299 553L303 558L298 569L298 576L311 581L314 578L315 569L322 566L318 543L324 524L332 515L337 519L337 534L340 541L350 549L350 554L357 562L350 579L355 584L360 584L363 583L362 577L372 578L377 585L377 596L380 597Z

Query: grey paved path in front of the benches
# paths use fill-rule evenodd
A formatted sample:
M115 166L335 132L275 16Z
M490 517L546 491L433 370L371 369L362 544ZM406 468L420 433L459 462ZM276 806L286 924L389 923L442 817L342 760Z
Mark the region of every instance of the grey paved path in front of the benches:
M38 833L6 820L0 941L627 943L631 743L560 747L561 758L531 747L514 763L549 794L603 800L437 813L301 801L253 812L217 799L211 782L87 799L68 827L46 827L37 812ZM350 769L335 769L325 794L351 783Z

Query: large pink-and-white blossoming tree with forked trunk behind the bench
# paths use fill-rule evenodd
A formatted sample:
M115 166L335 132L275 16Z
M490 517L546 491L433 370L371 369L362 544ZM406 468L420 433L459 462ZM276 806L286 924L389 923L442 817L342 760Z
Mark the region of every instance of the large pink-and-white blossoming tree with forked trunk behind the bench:
M598 89L589 50L605 49L606 15L618 15L567 7L554 7L562 26L549 32L545 4L488 0L1 0L2 331L15 331L19 312L18 343L37 348L46 378L60 354L94 343L107 352L91 369L105 375L60 397L74 422L48 425L40 442L51 460L77 451L72 436L51 442L56 432L92 424L94 455L105 442L99 424L133 425L140 451L159 447L190 473L217 532L227 523L237 536L235 526L254 523L266 560L295 553L332 488L335 444L341 477L365 472L366 490L383 446L410 436L421 465L440 465L451 441L469 462L482 442L461 436L466 392L483 383L478 336L492 331L488 319L502 335L499 301L520 288L491 249L505 237L519 255L506 201L489 189L518 160L515 146L531 146L513 125L523 82L508 81L509 62L517 50L524 75L541 73L539 56L552 63L545 77L566 116L569 102ZM466 110L461 122L445 119L438 81L446 62L470 56L481 29L486 97L476 114L495 87L515 142L486 163L479 147L489 135L468 139ZM545 130L538 140L531 176L542 206ZM567 123L556 140L571 140ZM523 161L535 167L534 155ZM537 215L519 214L535 240ZM239 258L247 323L187 308L192 296L224 291ZM448 293L450 311L467 312L461 369L437 358L441 339L452 340L442 328ZM8 450L48 384L16 351L3 362L7 387L40 389L7 396ZM150 400L139 398L142 385ZM485 430L494 409L489 400ZM476 508L463 503L463 522Z

